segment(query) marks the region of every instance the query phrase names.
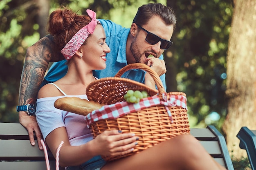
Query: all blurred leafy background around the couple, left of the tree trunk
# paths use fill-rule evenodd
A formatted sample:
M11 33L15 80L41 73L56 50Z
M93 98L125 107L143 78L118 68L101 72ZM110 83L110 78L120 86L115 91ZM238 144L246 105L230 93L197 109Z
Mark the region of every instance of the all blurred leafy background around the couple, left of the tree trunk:
M18 122L16 105L23 59L42 36L40 0L0 1L0 121ZM231 0L43 0L49 12L67 5L80 14L90 8L97 18L129 27L137 8L147 2L173 7L177 25L173 46L164 53L167 91L187 95L191 126L221 126L227 114L224 97ZM48 17L48 16L47 16ZM47 17L44 17L47 19ZM45 28L43 28L45 29ZM220 120L218 119L220 118ZM217 121L216 121L217 120Z

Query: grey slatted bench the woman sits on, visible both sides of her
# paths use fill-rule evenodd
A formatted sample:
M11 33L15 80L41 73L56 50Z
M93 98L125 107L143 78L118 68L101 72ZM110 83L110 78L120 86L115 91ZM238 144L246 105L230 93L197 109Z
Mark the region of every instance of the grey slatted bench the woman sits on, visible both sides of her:
M234 170L225 139L214 126L191 128L191 135L218 163ZM55 170L55 159L48 153L51 170ZM27 130L18 123L0 123L0 169L46 170L44 152L38 149L37 143L30 145Z

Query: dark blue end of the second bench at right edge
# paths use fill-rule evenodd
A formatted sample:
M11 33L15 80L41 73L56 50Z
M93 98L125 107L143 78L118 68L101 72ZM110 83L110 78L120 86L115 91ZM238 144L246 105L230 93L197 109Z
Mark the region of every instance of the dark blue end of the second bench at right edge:
M239 147L247 152L252 170L256 170L256 130L242 127L236 137L240 139Z

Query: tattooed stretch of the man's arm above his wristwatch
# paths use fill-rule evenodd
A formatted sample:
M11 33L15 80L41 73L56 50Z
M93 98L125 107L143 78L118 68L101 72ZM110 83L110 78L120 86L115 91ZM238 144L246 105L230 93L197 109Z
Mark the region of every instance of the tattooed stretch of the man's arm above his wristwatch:
M20 79L19 105L36 102L37 93L49 62L64 59L56 49L50 35L27 49Z

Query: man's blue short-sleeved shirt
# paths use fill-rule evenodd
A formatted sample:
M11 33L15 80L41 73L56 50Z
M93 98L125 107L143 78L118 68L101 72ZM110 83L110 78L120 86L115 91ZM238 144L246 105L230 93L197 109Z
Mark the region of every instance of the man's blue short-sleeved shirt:
M105 29L106 43L110 47L111 51L106 55L107 67L103 70L93 71L93 75L98 78L114 77L121 68L127 65L126 41L130 28L124 28L110 20L99 19L99 21ZM163 55L161 55L159 59L163 60ZM67 73L67 65L65 63L66 60L54 62L49 68L41 86L49 82L56 82L58 79L63 77ZM126 71L122 77L144 83L145 73L145 71L139 69L129 70ZM160 79L164 85L164 89L166 90L165 74L160 76Z

